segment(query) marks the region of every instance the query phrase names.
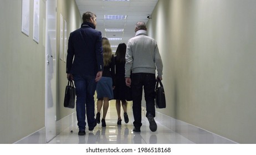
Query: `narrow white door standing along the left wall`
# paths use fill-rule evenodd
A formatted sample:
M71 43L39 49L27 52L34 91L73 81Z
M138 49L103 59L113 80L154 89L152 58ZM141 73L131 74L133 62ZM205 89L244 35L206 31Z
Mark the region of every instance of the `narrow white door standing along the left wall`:
M56 136L56 31L57 1L46 1L46 37L45 37L45 129L46 142Z

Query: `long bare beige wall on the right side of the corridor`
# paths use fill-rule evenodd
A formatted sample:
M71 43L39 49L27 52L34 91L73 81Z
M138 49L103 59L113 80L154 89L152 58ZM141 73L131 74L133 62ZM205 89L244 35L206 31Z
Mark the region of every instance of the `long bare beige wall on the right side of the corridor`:
M168 116L255 143L256 1L160 0L148 23Z

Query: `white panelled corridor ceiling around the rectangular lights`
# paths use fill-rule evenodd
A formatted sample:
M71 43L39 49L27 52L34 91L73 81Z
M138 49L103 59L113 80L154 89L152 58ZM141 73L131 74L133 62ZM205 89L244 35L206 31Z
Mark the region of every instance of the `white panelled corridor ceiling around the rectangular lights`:
M135 24L147 23L158 0L130 0L130 1L103 1L103 0L75 0L81 16L90 11L96 14L96 29L106 38L122 38L110 40L112 51L115 52L119 43L127 44L135 36ZM126 19L107 20L104 15L125 15ZM105 29L124 29L124 32L105 32Z

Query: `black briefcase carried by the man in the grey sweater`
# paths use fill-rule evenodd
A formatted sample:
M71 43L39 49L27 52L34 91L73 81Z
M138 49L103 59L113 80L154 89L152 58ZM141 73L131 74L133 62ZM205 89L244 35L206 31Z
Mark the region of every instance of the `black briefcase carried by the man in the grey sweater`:
M160 84L160 86L158 86ZM166 108L165 102L165 90L163 89L163 84L161 80L157 80L156 82L156 108Z

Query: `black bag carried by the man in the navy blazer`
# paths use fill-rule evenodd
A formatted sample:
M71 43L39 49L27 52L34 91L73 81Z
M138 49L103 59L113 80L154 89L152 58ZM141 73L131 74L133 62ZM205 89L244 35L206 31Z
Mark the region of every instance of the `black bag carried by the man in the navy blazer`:
M75 87L73 81L68 81L68 85L65 90L64 107L75 107Z

